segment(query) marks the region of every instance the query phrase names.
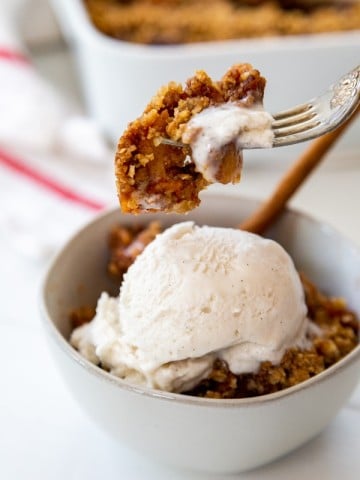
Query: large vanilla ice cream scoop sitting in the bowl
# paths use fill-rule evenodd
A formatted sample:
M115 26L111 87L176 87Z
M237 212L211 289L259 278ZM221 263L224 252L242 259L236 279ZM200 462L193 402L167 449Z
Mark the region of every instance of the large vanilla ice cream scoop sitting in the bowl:
M235 374L306 345L306 305L294 264L276 242L230 228L176 224L103 294L72 343L135 383L193 388L216 358Z

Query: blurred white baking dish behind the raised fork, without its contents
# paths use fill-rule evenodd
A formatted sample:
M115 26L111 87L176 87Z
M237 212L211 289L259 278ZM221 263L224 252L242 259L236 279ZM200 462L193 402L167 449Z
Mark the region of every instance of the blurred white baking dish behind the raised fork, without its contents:
M265 107L275 112L317 95L360 61L360 31L147 46L100 33L82 0L52 4L73 47L89 113L114 141L161 85L183 82L198 69L217 79L233 63L252 63L268 80ZM360 146L360 125L346 145Z

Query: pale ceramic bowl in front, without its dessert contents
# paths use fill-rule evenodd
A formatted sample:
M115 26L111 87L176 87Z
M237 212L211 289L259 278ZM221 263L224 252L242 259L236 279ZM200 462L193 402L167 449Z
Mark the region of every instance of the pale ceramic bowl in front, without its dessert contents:
M257 202L205 195L186 219L234 226ZM184 219L159 215L165 225ZM105 273L106 237L117 222L154 217L111 211L81 230L46 276L42 313L52 352L84 411L124 445L161 462L209 472L238 472L269 462L318 434L336 415L360 375L360 345L318 376L282 392L251 399L212 400L129 385L81 357L67 342L69 312L113 294ZM360 314L360 250L332 228L287 212L268 234L325 291L344 296ZM219 319L221 321L222 319Z

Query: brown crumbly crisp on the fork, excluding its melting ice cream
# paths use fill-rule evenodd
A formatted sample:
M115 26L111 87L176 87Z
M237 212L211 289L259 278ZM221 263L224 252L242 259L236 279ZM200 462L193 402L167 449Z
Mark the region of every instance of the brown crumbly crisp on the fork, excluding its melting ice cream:
M190 146L174 147L161 138L180 141L193 115L225 102L244 107L261 103L265 79L250 64L232 66L220 81L202 70L183 87L170 82L153 97L144 113L121 136L115 157L115 175L123 212L187 212L200 203L199 192L209 185L191 161ZM221 152L216 180L236 183L232 172L241 162L234 145Z

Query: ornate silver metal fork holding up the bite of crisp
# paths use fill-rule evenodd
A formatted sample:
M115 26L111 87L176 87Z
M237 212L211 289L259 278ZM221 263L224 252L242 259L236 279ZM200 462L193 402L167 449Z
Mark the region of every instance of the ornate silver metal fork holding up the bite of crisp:
M312 140L343 124L360 103L360 65L342 76L325 93L289 110L272 115L272 147L282 147ZM161 143L174 147L184 144L162 138ZM261 145L246 148L264 148ZM265 147L267 148L267 147Z

